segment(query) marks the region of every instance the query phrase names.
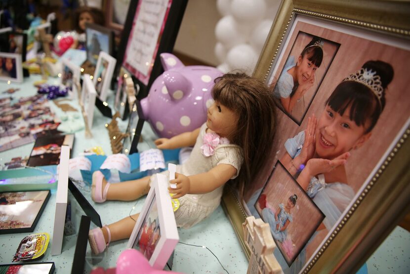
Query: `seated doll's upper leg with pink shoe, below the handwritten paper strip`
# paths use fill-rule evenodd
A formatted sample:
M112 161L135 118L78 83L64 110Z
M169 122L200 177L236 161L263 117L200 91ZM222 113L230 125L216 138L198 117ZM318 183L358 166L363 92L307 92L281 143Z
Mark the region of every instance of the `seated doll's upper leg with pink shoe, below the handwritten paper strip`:
M102 203L108 200L132 201L148 193L150 177L122 183L108 183L100 171L92 175L91 198Z

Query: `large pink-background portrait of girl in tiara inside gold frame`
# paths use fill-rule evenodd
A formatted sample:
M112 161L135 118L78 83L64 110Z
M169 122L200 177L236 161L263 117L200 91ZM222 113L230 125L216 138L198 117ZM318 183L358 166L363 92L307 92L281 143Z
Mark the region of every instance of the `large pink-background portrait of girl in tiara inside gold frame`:
M287 59L292 41L302 32L340 46L300 125L290 120L287 113L278 111L278 134L270 158L245 197L250 214L262 218L258 199L271 183L283 180L277 178L280 163L291 177L289 182L295 180L325 215L290 266L281 250L274 252L284 273L306 269L336 229L338 235L342 231L348 237L361 233L343 230L346 220L358 218L349 215L349 209L360 198L371 202L372 197L366 195L377 179L377 172L390 161L387 156L392 147L410 126L410 98L403 93L410 85L407 65L403 62L410 60L410 45L380 35L361 36L353 30L339 30L330 24L315 25L306 20L295 23L287 38L289 46L285 46L279 57L282 59L276 63L279 68ZM319 68L323 64L322 61ZM295 217L301 196L294 193L298 199L286 230L287 236L296 238L299 234L292 234L291 229L303 228L305 224ZM273 203L274 197L267 195L274 214L277 206L285 203L286 196Z

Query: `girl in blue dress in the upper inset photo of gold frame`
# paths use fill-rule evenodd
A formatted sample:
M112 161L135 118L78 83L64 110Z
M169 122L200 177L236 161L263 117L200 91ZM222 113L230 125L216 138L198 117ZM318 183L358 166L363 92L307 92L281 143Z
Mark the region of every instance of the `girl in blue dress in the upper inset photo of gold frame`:
M322 59L323 42L316 36L305 46L297 60L293 56L287 59L274 89L275 97L280 99L287 113L292 113L295 104L313 86Z

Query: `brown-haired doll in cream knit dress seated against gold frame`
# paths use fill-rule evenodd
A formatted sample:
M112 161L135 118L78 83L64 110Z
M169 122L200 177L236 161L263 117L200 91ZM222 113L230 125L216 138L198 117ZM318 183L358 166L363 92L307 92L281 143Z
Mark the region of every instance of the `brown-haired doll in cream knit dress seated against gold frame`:
M275 133L273 96L263 82L246 74L225 74L215 80L215 100L209 107L205 124L193 132L160 138L160 149L195 145L189 159L176 168L176 188L168 188L179 198L175 212L178 227L190 228L208 217L218 206L225 183L236 179L243 197L251 178L266 160ZM169 172L164 172L169 176ZM123 183L107 183L102 173L93 174L91 198L135 200L148 193L150 177ZM132 216L134 220L138 214ZM110 240L128 238L135 221L126 217L119 222L90 230L88 239L94 253L102 252Z

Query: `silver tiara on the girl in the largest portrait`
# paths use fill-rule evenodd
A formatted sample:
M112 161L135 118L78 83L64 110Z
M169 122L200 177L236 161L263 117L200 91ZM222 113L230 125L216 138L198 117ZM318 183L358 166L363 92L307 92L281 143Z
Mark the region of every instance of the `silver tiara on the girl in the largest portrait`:
M342 82L345 82L345 81L353 81L353 82L358 82L362 85L365 85L371 91L373 91L374 95L376 95L381 105L381 97L383 95L384 89L381 86L380 76L376 75L376 71L372 71L371 69L361 68L355 73L350 74Z

